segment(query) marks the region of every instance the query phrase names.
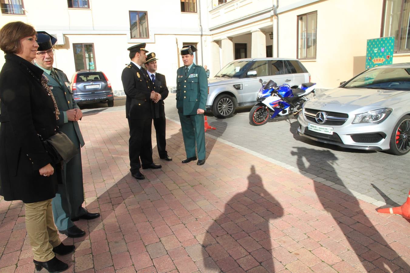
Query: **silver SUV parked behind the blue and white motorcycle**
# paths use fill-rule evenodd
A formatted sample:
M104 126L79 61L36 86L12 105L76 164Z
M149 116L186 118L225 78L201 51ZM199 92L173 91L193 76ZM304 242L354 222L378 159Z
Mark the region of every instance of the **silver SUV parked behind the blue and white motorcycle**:
M261 86L259 79L292 87L310 82L310 73L297 59L237 59L208 79L206 111L218 118L229 118L236 107L254 105Z

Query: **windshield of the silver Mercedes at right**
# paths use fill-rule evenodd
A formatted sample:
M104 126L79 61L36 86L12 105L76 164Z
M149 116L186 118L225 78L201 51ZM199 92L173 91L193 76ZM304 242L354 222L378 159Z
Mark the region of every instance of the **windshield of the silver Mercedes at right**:
M388 66L369 69L343 87L410 91L410 67Z

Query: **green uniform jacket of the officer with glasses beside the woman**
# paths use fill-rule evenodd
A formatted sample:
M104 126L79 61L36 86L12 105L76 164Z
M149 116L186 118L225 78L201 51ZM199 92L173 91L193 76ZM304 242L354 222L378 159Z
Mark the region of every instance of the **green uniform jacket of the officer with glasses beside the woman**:
M57 103L57 107L60 111L57 125L59 130L66 134L68 138L73 141L74 145L77 146L77 148L80 148L84 146L84 139L82 138L80 126L77 121L68 121L67 116L64 113L65 111L73 108L80 109L80 107L78 107L77 103L73 100L73 93L67 86L69 82L66 74L57 68L54 68L54 70L59 77L60 83L54 80L47 73L44 73L44 75L48 78L48 86L50 86L55 102Z

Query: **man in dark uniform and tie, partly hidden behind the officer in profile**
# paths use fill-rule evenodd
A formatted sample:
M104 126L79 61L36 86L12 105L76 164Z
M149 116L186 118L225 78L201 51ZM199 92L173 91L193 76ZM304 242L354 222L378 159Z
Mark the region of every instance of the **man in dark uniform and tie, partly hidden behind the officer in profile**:
M145 61L145 67L147 68L147 73L151 82L154 86L154 91L157 92L159 95L158 100L154 101L154 127L155 133L157 135L157 148L158 148L158 155L160 159L164 159L167 161L171 161L172 158L168 156L168 152L166 151L166 139L165 139L165 125L166 125L166 118L165 118L165 110L164 110L164 100L168 97L168 88L166 87L165 76L157 71L157 58L155 57L155 53L151 52L147 55L147 59Z

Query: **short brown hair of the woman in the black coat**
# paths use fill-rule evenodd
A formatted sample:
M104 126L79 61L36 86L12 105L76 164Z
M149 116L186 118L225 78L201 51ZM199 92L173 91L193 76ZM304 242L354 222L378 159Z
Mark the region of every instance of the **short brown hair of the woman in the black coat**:
M36 30L31 25L23 22L10 22L0 30L0 49L7 53L21 51L20 40L36 35Z

